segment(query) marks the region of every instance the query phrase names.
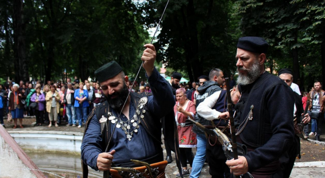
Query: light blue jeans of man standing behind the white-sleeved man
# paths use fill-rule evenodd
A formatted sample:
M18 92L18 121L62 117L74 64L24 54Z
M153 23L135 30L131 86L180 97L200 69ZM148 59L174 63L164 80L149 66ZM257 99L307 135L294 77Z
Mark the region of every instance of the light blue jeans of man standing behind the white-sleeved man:
M196 154L193 160L191 178L198 178L201 174L202 167L205 162L206 148L207 148L207 139L205 138L204 133L196 134L197 148Z

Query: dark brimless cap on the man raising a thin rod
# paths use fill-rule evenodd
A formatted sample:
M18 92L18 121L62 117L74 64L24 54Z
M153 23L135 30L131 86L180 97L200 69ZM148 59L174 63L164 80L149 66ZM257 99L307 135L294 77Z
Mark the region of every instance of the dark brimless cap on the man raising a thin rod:
M115 61L111 61L106 65L99 67L95 71L95 76L99 82L106 81L122 71L122 67L118 65Z

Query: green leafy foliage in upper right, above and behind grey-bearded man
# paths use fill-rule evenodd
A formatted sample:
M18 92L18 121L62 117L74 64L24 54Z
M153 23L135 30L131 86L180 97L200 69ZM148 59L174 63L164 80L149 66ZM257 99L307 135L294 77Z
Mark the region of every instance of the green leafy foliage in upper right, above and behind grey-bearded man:
M293 80L306 79L310 86L322 80L324 8L323 0L238 0L234 15L242 17L244 36L262 36L270 43L270 67L275 61L276 70L292 68Z

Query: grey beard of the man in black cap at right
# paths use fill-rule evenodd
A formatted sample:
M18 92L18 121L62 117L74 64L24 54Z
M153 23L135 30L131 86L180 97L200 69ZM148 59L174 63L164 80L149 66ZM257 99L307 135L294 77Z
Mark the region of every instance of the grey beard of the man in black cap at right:
M253 83L260 76L260 64L259 61L256 62L249 68L245 69L244 67L238 67L238 78L237 83L241 85L248 85ZM246 75L242 74L240 71L245 71Z

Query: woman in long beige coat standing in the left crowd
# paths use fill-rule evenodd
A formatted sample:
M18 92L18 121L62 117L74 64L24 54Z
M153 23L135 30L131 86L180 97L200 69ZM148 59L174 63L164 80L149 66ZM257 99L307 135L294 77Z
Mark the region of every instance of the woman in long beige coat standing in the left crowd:
M54 117L55 127L59 127L57 124L58 113L60 112L60 95L56 91L55 85L50 86L50 90L45 97L46 111L49 113L49 127L52 127L52 121Z

